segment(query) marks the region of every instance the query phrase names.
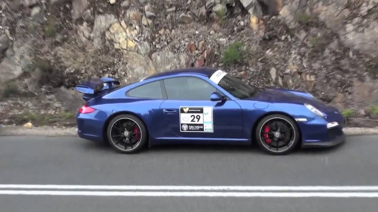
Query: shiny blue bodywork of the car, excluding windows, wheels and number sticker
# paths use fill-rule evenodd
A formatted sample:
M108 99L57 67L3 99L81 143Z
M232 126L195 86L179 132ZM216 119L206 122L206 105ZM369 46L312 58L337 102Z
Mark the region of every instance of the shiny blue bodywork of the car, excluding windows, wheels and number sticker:
M297 121L302 144L316 146L324 143L332 146L335 139L344 136L342 133L344 117L336 108L316 100L311 94L302 91L266 88L253 98L240 100L209 79L215 71L217 69L213 68L178 69L155 74L120 88L103 89L97 94L94 92L90 94L90 98L87 96L87 106L96 111L89 114L77 114L78 134L88 140L105 140L108 122L118 114L129 113L139 117L146 125L150 146L163 143L251 144L255 137L254 129L258 121L266 115L279 113L288 115L294 120L306 120ZM170 100L166 97L147 99L126 95L127 91L140 85L181 76L192 76L207 81L225 95L227 100L222 102L210 99L208 101ZM77 88L86 87L95 90L98 84L114 81L116 80L111 78L92 80ZM313 105L326 114L326 117L315 115L304 106L304 103ZM180 106L212 107L214 131L180 132ZM334 121L339 125L328 129L327 123Z

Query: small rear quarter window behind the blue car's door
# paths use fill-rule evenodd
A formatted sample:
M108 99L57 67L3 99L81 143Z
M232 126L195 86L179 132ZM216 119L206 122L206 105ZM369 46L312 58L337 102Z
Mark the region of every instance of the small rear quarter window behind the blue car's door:
M161 95L160 83L155 81L152 83L147 83L132 89L127 92L127 95L132 97L143 97L143 98L163 98Z

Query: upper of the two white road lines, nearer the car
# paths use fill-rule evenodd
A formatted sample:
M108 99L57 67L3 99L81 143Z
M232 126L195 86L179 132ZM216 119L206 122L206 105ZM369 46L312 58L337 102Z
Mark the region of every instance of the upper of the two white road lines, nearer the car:
M135 186L0 184L0 189L51 190L203 190L203 191L377 191L378 186Z

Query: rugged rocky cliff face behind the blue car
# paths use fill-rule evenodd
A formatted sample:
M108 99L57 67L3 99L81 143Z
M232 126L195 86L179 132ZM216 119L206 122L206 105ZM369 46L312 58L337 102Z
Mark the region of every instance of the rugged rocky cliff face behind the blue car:
M76 112L72 87L88 78L211 66L375 124L378 0L0 0L0 9L3 122Z

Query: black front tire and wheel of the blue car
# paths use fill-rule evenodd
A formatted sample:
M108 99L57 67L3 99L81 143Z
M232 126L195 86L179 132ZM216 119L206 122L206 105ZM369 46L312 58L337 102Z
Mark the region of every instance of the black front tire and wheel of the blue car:
M271 127L271 124L274 125L274 122L276 122L276 126ZM271 127L272 132L266 132L266 126L268 126L268 129ZM285 126L287 129L282 131L280 128ZM292 118L281 114L273 114L264 117L259 124L257 124L255 132L256 143L259 145L260 149L271 155L286 155L294 151L300 142L301 136L295 121ZM276 134L276 132L279 132L279 134ZM290 135L288 132L290 132ZM283 133L285 134L285 137L283 137ZM268 138L265 138L265 136L268 136ZM274 146L273 143L275 143ZM282 145L282 149L279 149L279 146L281 146L280 144Z

